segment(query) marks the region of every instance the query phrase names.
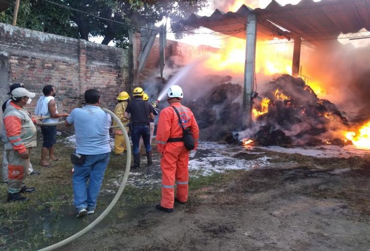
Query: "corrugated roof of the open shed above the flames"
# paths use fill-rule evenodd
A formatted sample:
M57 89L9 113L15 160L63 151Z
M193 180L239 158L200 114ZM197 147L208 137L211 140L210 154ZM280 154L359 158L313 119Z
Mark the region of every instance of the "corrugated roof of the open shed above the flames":
M264 9L242 5L236 12L215 10L210 17L193 14L180 24L245 38L244 28L250 13L257 16L259 39L298 35L318 43L320 40L336 39L341 32L357 32L361 28L370 30L370 0L301 0L285 6L272 0Z

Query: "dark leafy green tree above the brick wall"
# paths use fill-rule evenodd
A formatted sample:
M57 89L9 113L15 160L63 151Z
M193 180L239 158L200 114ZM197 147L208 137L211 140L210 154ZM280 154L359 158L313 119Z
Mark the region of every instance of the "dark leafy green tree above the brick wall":
M130 29L138 31L164 17L174 27L206 5L207 0L21 0L17 25L85 40L103 36L102 44L127 47ZM13 8L0 12L0 22L11 24Z

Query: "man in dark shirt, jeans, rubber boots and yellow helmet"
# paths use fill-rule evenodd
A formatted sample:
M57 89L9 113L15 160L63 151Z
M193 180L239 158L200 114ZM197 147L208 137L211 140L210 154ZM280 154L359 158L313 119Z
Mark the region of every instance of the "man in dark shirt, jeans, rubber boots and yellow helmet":
M149 124L150 119L154 119L153 108L149 103L142 100L144 90L141 87L136 87L133 93L135 100L128 104L124 114L126 118L131 119L132 123L131 139L133 145L134 166L131 168L135 169L140 167L140 137L142 137L144 141L146 159L148 161L147 166L151 167L153 163L150 146Z

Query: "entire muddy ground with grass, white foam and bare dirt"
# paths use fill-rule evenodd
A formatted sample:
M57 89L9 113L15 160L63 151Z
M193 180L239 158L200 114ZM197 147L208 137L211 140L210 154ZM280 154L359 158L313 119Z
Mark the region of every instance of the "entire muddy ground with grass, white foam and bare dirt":
M37 250L70 236L96 219L117 191L125 159L112 156L96 214L76 219L70 147L58 148L65 156L56 167L35 165L42 174L29 184L38 194L27 204L6 204L0 187L1 250ZM175 204L171 214L154 209L160 198L155 154L152 169L130 174L104 222L59 250L370 250L369 157L295 152L202 142L191 154L189 202Z

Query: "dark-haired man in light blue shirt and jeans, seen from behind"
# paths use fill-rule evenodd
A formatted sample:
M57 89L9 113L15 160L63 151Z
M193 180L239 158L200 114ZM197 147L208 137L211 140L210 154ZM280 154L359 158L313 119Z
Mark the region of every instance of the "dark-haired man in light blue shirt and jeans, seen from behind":
M83 164L74 164L72 177L73 203L78 218L94 213L111 152L109 128L112 118L99 107L99 91L86 90L85 103L83 108L72 110L66 119L67 125L75 127L76 153L85 157Z

